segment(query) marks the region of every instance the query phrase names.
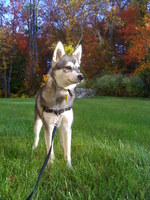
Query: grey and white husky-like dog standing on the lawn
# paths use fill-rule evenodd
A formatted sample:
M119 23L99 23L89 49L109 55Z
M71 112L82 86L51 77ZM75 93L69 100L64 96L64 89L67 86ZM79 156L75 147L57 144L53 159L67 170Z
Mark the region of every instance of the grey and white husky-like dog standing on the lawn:
M71 167L71 126L73 123L74 89L83 80L80 73L82 47L79 45L71 56L65 54L64 47L58 42L52 58L52 67L48 72L48 81L37 95L35 106L33 148L39 142L42 125L45 129L45 143L47 152L50 149L52 131L56 122L64 148L64 157ZM53 145L53 144L52 144ZM53 162L54 151L50 161Z

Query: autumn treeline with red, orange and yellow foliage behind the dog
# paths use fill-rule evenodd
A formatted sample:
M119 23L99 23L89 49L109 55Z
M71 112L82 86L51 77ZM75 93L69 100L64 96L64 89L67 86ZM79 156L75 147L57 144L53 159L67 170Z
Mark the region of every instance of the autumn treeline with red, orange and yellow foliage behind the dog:
M35 95L56 43L70 53L82 36L87 82L117 73L150 88L149 9L147 0L1 1L0 96Z

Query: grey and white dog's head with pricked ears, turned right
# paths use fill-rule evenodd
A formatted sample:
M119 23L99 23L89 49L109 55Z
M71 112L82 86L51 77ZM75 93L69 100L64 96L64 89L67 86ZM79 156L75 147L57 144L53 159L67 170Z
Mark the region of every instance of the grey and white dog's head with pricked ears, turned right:
M80 73L81 54L81 45L71 56L68 56L65 54L63 44L58 42L53 54L51 68L58 86L71 88L83 80L83 75Z

